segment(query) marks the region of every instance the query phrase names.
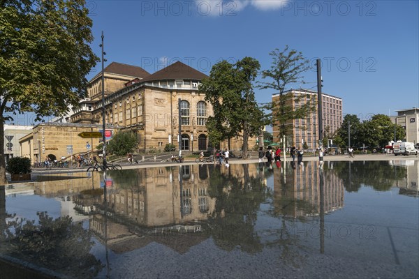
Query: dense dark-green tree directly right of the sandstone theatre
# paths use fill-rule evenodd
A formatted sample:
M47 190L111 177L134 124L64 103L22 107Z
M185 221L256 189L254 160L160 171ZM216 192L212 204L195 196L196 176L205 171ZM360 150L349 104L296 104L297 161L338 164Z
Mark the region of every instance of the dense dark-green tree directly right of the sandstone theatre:
M212 144L242 137L243 158L246 157L249 137L258 135L264 125L263 112L253 91L259 68L259 62L251 57L244 57L235 64L224 60L212 67L210 77L200 85L214 112L207 121Z

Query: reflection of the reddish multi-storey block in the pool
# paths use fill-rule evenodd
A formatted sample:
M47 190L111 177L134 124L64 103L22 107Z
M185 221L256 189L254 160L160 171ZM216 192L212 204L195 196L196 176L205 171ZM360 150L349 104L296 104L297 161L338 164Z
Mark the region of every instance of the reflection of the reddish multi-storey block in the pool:
M332 162L330 162L332 163ZM344 206L344 183L333 169L325 166L324 210L325 213L341 209ZM284 216L312 216L320 213L320 183L318 181L318 162L304 163L297 166L276 169L274 172L274 207Z

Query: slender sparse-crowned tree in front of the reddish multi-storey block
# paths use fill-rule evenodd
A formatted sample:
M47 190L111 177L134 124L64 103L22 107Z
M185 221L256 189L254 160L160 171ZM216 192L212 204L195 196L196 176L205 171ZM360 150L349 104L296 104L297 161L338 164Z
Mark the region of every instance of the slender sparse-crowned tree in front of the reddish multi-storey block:
M271 82L259 82L260 89L274 89L279 93L279 98L268 103L266 108L272 111L270 114L271 125L277 125L279 128L279 137L289 135L293 130L293 126L289 125L294 119L305 119L309 113L315 110L316 101L305 96L293 96L293 94L284 94L289 84L297 83L301 78L301 74L307 70L304 66L304 57L302 52L289 50L288 45L281 52L275 49L270 52L272 56L272 65L269 70L262 71L262 78L270 78ZM291 103L295 102L296 106ZM304 127L300 127L304 128Z

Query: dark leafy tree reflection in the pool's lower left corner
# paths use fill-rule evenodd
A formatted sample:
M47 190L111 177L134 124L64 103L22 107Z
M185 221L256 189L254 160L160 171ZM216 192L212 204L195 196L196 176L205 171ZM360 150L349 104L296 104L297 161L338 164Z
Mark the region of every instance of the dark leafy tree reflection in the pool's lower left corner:
M53 220L38 213L39 222L15 218L8 223L1 239L0 252L27 260L72 278L92 278L102 269L101 262L89 253L91 233L66 216Z

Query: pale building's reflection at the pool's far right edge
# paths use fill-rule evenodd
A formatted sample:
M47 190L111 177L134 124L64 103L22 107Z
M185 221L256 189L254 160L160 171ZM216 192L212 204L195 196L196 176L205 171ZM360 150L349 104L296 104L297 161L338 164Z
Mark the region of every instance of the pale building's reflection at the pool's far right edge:
M396 186L402 195L419 196L419 164L416 160L393 160L390 165L406 168L406 177L396 180Z

